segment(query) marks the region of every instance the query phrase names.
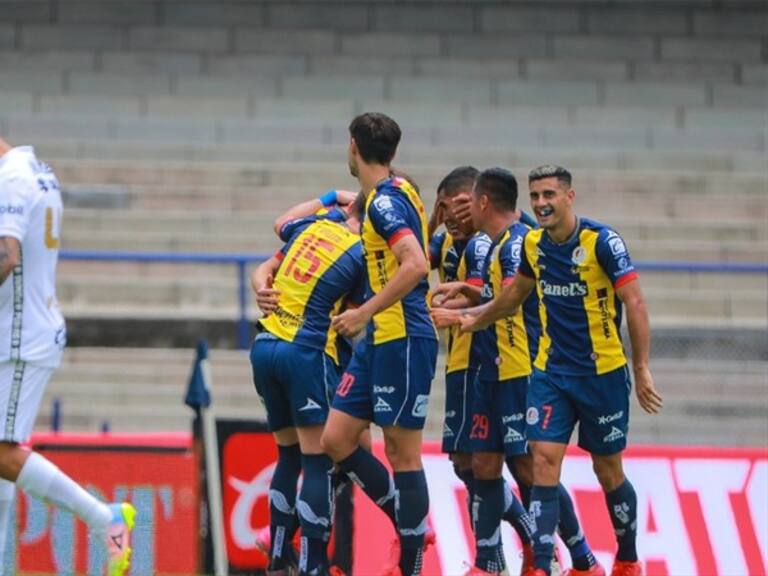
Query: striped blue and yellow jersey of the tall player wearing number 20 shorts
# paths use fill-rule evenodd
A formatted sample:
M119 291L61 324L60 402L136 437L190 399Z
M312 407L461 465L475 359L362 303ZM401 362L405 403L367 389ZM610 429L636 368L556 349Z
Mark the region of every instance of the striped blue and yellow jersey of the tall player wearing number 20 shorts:
M421 243L428 257L427 220L424 205L411 184L398 177L380 182L368 194L362 239L366 267L366 300L381 292L399 266L391 246L408 234ZM374 344L406 336L437 338L429 315L429 281L418 285L386 310L375 314L367 335Z

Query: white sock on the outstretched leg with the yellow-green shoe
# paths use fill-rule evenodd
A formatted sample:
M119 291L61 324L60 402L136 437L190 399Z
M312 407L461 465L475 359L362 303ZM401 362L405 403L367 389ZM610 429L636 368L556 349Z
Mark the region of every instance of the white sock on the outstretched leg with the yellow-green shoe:
M109 506L36 452L27 458L16 485L30 496L74 512L93 530L106 530L112 521Z

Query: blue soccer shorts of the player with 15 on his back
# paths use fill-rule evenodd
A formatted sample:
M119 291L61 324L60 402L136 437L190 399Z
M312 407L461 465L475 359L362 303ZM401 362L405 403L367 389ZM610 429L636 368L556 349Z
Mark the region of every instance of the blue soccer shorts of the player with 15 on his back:
M339 372L323 350L262 332L251 346L251 368L271 431L325 424Z

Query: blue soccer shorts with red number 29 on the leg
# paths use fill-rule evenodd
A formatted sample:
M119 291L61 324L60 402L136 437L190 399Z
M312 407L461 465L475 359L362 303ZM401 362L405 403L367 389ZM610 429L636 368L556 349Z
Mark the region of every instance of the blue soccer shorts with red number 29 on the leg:
M473 452L520 456L528 449L525 407L528 376L475 380L470 439Z

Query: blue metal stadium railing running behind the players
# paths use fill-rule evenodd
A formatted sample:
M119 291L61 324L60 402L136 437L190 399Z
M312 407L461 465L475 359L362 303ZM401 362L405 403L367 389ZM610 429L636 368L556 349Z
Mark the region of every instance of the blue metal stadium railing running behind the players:
M238 276L238 319L237 341L241 349L250 346L250 330L248 320L248 278L249 265L258 264L269 259L268 254L205 254L179 252L111 252L91 250L63 250L62 260L78 260L91 262L143 262L171 264L229 264L237 268ZM638 270L649 272L680 272L680 273L713 273L713 274L768 274L768 263L735 263L735 262L635 262Z

